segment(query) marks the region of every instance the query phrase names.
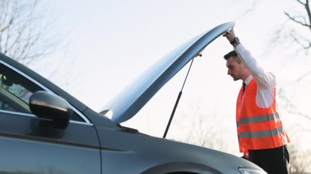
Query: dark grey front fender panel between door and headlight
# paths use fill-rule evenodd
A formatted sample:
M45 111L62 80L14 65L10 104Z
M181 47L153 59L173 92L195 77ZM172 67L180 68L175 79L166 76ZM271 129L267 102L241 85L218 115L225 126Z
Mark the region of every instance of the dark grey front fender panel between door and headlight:
M144 134L111 131L105 128L97 128L97 131L101 142L103 171L107 169L108 171L113 170L116 173L122 173L124 169L127 169L127 173L141 173L156 166L159 167L157 171L161 171L160 169L165 170L163 164L175 164L176 168L171 166L171 170L176 170L181 167L177 164L181 163L187 163L189 166L202 165L206 166L205 171L221 173L235 173L238 166L258 168L255 164L250 164L249 161L234 155L193 146L192 144ZM114 163L122 165L115 167ZM188 169L185 171L193 171L191 168ZM196 169L197 171L200 170L200 168Z

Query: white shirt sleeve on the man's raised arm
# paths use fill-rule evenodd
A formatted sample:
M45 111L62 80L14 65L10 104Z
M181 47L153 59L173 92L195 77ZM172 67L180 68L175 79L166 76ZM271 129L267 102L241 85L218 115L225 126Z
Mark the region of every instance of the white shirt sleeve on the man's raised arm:
M260 90L268 90L274 88L276 78L274 74L265 72L257 63L256 59L252 56L251 52L246 50L240 43L234 50L237 52L239 58L245 63L246 68L250 71L257 83Z

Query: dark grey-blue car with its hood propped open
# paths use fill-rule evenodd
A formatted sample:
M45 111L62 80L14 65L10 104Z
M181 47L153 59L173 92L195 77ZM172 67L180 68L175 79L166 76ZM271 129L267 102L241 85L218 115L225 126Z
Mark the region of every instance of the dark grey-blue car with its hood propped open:
M181 45L100 113L0 54L0 173L265 173L237 156L120 124L233 26L218 25ZM112 119L104 115L109 110Z

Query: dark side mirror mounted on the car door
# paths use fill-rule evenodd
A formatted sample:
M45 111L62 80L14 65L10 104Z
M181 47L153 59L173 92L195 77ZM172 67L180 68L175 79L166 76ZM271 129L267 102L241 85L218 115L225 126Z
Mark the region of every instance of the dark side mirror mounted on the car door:
M37 91L29 99L29 107L33 114L39 118L50 119L54 127L65 129L73 110L63 98L46 91Z

